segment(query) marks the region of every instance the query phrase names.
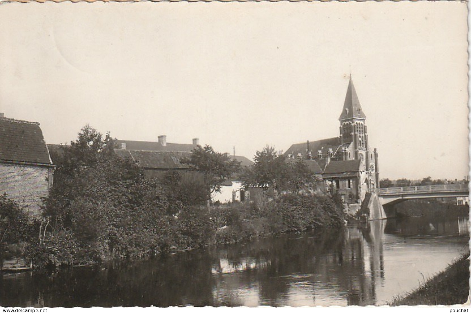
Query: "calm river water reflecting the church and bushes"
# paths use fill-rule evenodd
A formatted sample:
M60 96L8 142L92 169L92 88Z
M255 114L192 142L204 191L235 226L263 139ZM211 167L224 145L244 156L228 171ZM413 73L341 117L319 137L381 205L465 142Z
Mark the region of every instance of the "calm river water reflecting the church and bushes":
M467 223L374 221L106 269L4 275L0 305L382 305L467 252Z

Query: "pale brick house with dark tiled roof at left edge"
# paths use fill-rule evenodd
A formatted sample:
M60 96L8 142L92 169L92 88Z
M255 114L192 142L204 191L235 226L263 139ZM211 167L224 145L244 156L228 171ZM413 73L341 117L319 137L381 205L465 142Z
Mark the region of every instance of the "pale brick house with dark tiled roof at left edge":
M54 169L40 124L0 113L0 193L39 214L41 198L48 196L53 184Z

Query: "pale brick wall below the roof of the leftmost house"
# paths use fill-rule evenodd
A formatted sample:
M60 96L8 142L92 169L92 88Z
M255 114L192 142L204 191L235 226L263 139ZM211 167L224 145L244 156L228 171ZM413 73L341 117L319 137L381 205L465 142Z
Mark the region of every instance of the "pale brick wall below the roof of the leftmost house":
M52 186L53 169L43 166L0 164L0 193L17 201L33 214L39 214L41 197Z

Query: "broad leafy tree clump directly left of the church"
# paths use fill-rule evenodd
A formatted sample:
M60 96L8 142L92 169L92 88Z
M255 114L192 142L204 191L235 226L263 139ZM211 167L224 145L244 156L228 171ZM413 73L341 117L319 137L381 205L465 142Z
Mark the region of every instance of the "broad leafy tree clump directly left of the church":
M257 151L255 164L242 175L244 187L272 187L277 192L313 189L317 179L302 160L287 160L274 147Z

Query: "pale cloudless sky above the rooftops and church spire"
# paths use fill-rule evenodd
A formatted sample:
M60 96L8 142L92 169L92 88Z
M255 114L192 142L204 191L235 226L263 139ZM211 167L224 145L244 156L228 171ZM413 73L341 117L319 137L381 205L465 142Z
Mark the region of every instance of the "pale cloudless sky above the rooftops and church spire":
M455 1L4 4L0 112L51 144L89 123L252 158L338 136L351 69L380 176L461 179L466 15Z

